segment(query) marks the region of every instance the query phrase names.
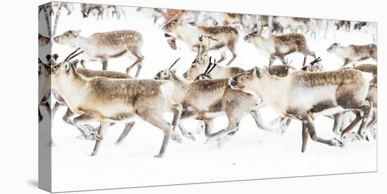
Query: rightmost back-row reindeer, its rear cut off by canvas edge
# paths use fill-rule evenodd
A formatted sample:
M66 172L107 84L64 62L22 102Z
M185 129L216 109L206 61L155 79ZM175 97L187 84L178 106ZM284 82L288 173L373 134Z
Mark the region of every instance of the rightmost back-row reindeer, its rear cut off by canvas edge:
M353 45L341 46L341 44L334 43L326 49L328 53L335 54L336 56L343 58L344 63L341 67L344 67L348 63L355 61L365 60L367 58L373 58L377 60L377 51L375 44L366 45Z

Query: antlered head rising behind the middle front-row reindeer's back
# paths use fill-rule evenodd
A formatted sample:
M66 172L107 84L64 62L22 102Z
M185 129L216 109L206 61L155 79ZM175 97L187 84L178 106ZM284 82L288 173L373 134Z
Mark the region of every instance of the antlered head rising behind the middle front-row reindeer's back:
M207 64L210 63L211 58L208 56L208 48L210 48L210 41L214 40L217 41L217 39L212 39L212 37L206 37L208 38L208 46L207 50L203 52L203 35L199 37L199 49L198 49L198 55L195 57L194 61L191 63L191 67L189 70L184 72L183 77L185 79L195 79L198 75L200 75L204 70L207 68Z

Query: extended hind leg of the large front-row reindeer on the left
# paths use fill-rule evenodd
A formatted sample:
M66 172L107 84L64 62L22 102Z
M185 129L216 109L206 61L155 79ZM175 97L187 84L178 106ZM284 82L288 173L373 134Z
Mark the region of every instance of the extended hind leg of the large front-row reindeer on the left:
M165 121L163 118L163 112L158 110L158 108L146 108L144 110L137 110L136 112L141 119L163 131L163 144L161 145L158 155L155 155L155 157L163 157L165 148L167 147L167 144L170 140L172 124L169 124L167 121Z

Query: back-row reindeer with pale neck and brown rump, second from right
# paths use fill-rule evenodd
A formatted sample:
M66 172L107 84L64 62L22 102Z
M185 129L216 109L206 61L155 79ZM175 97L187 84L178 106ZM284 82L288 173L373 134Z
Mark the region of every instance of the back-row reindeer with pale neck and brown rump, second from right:
M307 56L316 59L315 53L309 50L303 34L281 34L265 38L255 31L246 35L244 40L253 44L269 58L269 66L272 65L275 58L279 58L285 64L285 56L296 52L304 54L303 65L305 65Z

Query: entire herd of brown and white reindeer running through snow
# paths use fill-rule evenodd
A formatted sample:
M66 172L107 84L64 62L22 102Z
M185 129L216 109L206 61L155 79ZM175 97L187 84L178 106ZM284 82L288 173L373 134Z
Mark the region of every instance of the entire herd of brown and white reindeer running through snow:
M93 11L99 14L101 8L83 5L82 15L87 17ZM70 14L69 10L70 6ZM166 15L163 10L148 8L147 11L154 17L153 22ZM351 141L376 138L376 65L347 66L367 58L376 62L376 45L331 44L326 52L343 58L343 65L336 64L337 70L325 71L321 58L310 50L304 35L312 31L315 36L316 27L323 24L324 20L307 18L182 11L179 17L165 20L160 30L168 41L173 40L172 49L178 40L197 54L184 74L178 75L174 68L177 59L148 79L137 78L144 57L148 57L141 54L146 39L141 32L119 30L82 37L80 30L68 30L52 39L56 44L77 48L75 51L61 61L58 54L51 53L47 53L46 62L39 58L39 107L51 112L51 119L58 108L67 107L63 121L80 131L80 137L96 141L91 155L96 155L103 136L116 123L125 124L116 143L122 142L135 122L148 122L163 131L163 143L156 155L163 157L170 138L178 143L182 143L183 137L196 140L194 133L184 128L182 120L202 121L198 132L204 131L205 143L225 143L239 131L241 119L246 115L253 117L259 129L281 134L292 120L299 120L302 152L309 136L313 141L340 147ZM348 22L338 22L337 30L339 25ZM355 29L365 25L366 22L359 22ZM265 27L269 34L275 34L265 37ZM286 29L291 32L283 33ZM300 29L304 33L298 33ZM234 65L237 43L243 40L266 56L267 66L243 70ZM39 46L50 41L51 38L39 34ZM221 48L231 53L231 59L227 60ZM219 51L220 59L216 60L208 51ZM288 63L286 56L291 53L303 54L300 67ZM134 61L125 65L126 73L108 70L108 60L122 56ZM307 56L313 58L310 63ZM273 65L276 59L283 64ZM100 61L102 70L87 69L90 61ZM226 65L217 65L223 61L227 61ZM77 67L78 63L82 67ZM137 67L137 72L132 77L133 67ZM55 100L52 108L51 94ZM263 107L272 108L279 117L266 124L260 114ZM164 118L164 112L172 112L172 122ZM227 127L215 130L214 119L224 115ZM338 137L325 139L317 135L319 129L314 119L319 116L334 119L332 131ZM39 122L42 119L39 110ZM99 127L93 127L95 122Z

